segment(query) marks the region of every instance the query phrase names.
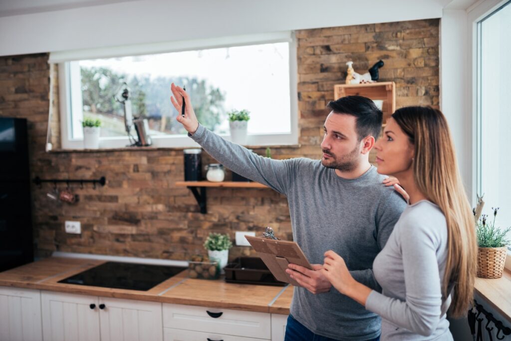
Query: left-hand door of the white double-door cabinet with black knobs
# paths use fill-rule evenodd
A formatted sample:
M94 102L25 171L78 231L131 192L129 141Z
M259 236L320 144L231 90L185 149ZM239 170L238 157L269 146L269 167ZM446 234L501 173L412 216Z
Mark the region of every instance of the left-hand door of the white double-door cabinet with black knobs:
M99 308L96 296L41 292L42 332L45 341L98 341ZM91 308L91 304L94 307Z

